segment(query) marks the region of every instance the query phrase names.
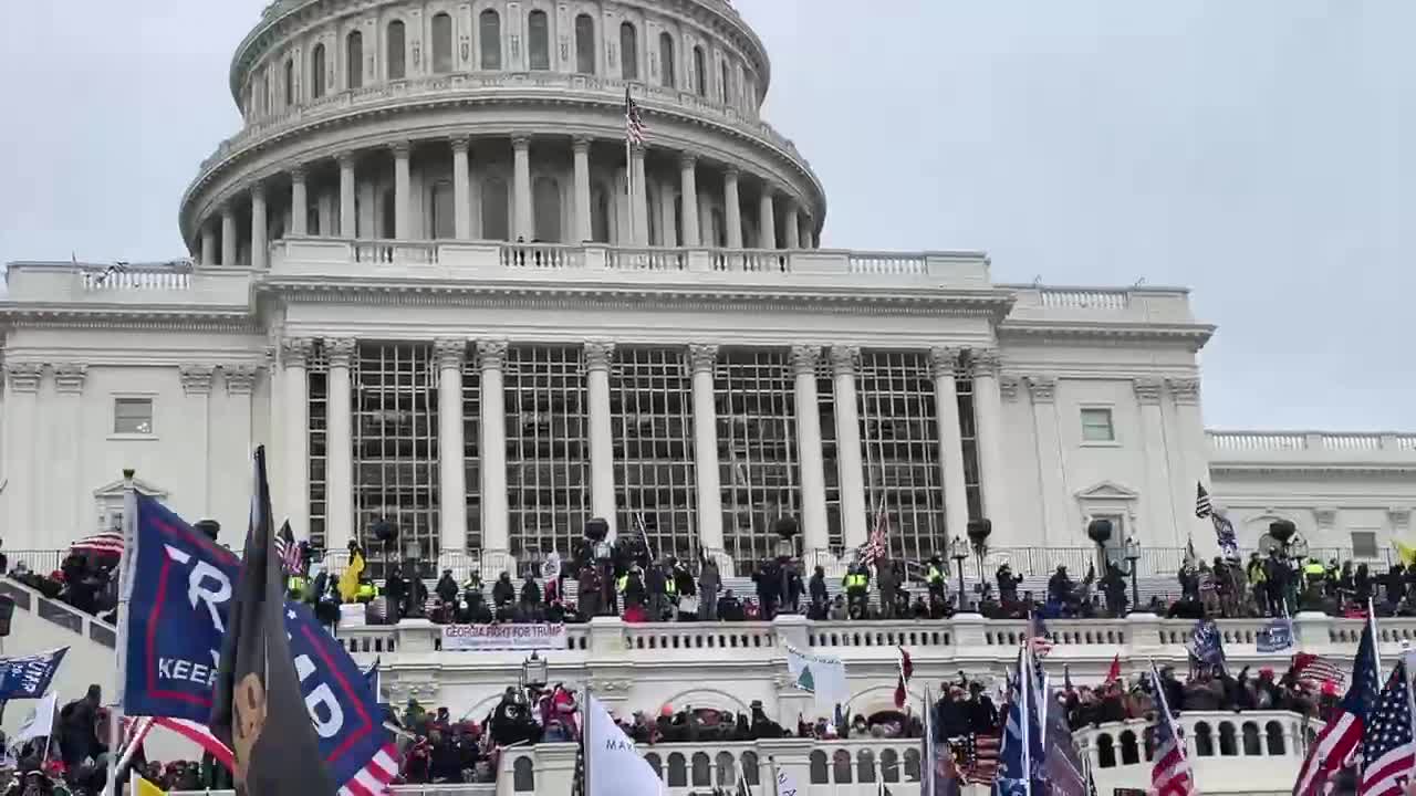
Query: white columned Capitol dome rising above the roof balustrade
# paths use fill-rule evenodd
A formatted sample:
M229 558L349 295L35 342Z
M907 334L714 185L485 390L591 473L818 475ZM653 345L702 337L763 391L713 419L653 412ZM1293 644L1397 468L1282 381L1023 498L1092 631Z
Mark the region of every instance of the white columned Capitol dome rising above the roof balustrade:
M242 129L181 232L256 268L287 235L811 248L826 195L760 119L769 82L724 0L280 0L236 48Z

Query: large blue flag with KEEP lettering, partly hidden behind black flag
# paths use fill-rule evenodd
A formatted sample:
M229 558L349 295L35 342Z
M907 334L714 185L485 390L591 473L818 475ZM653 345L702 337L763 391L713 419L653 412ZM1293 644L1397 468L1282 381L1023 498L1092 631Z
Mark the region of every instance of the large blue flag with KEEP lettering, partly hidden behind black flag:
M204 725L241 561L143 494L136 525L123 710ZM365 673L303 603L285 603L285 629L330 776L388 782L392 738Z

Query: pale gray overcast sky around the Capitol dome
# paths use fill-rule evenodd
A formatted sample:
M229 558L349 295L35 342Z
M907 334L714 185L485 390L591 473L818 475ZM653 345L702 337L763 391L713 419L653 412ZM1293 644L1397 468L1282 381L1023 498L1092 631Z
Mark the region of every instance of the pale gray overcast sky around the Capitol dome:
M236 129L227 68L265 4L10 4L0 261L183 254L177 201ZM824 245L1187 285L1221 327L1209 425L1416 429L1416 3L736 4L766 115L826 184Z

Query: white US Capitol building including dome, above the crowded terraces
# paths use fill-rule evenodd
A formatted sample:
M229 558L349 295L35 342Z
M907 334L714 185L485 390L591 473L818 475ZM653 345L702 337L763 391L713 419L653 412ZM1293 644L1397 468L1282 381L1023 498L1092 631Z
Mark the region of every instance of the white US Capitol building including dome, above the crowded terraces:
M821 248L770 76L725 0L272 4L181 197L190 259L8 268L6 550L110 527L127 466L241 528L255 443L316 547L387 520L493 571L592 517L741 574L790 516L840 562L881 506L910 559L974 518L1017 555L1093 518L1204 554L1197 483L1246 547L1409 531L1416 435L1206 433L1184 289Z

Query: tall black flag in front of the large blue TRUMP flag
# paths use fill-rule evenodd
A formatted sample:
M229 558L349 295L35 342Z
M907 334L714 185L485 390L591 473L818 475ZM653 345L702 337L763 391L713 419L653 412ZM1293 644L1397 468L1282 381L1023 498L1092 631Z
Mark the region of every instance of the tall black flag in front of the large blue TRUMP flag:
M245 558L221 643L212 734L235 756L238 796L334 796L285 630L265 448L256 448Z

